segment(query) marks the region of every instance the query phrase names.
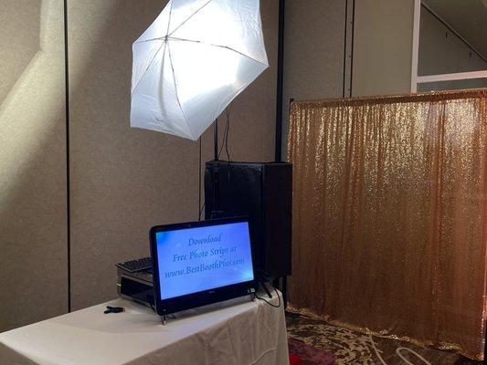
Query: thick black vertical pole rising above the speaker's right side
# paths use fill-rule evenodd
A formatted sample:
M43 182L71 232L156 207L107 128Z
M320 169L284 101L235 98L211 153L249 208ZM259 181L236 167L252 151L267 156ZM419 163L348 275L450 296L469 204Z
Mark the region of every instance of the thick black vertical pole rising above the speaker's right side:
M278 85L276 97L276 146L275 162L282 161L282 82L284 76L284 8L285 0L279 2L278 40Z

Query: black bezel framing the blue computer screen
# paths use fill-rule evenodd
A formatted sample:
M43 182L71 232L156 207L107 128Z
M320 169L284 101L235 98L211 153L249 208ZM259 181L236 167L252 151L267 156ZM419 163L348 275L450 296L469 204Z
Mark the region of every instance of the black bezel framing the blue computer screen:
M151 228L150 231L150 243L151 243L151 256L153 260L153 285L154 285L154 303L155 311L159 316L166 316L186 309L198 308L217 302L222 302L235 297L244 297L255 292L256 289L256 270L255 270L255 257L253 253L252 242L249 242L250 253L252 256L252 270L254 279L241 282L238 284L232 284L225 287L216 287L199 291L196 293L186 294L180 297L171 297L167 299L161 299L161 285L159 281L159 265L157 263L157 240L156 234L160 232L175 231L189 228L200 228L221 224L233 224L233 223L247 223L249 226L249 239L250 238L250 224L249 217L233 217L222 219L211 219L200 222L185 222L180 224L164 224L156 225Z

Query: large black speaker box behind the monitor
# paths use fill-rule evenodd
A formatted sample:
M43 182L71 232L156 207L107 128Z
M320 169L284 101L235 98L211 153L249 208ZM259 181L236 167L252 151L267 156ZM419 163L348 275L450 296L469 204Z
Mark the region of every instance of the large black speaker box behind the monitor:
M205 217L250 217L257 270L291 275L291 163L206 162Z

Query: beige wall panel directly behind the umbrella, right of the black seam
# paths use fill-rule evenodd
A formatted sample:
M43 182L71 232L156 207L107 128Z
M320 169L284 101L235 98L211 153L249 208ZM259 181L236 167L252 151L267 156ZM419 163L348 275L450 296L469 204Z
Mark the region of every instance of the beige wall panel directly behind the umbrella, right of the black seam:
M273 155L278 1L261 3L271 68L232 106L232 160ZM69 0L74 309L116 296L114 265L149 255L151 226L197 219L198 143L129 125L132 42L164 5ZM206 161L211 130L202 143Z

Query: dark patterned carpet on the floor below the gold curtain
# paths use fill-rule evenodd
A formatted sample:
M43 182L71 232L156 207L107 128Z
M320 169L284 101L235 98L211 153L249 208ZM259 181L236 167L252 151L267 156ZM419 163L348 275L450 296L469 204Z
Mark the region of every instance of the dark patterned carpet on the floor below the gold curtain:
M334 327L323 321L289 312L286 313L286 320L288 336L291 339L301 339L318 349L332 352L337 358L336 365L381 365L370 338L366 335L345 328ZM423 349L408 342L394 339L381 339L376 337L373 339L376 342L376 348L381 351L381 356L387 365L405 364L396 354L396 349L399 347L405 347L418 352L419 355L428 360L432 365L482 364L482 362L468 360L448 351ZM403 356L413 364L424 365L424 362L408 354L407 351L403 351Z

